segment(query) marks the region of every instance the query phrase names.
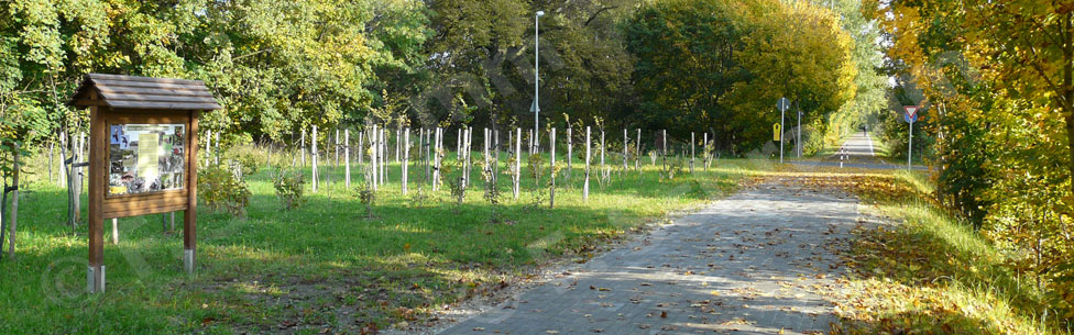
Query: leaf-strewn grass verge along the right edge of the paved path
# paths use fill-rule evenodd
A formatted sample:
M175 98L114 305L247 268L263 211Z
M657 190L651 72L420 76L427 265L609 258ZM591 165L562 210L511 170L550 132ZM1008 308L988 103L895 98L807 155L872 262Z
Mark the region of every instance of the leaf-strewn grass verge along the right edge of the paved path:
M850 177L863 217L834 334L1070 334L1029 278L930 202L924 176Z

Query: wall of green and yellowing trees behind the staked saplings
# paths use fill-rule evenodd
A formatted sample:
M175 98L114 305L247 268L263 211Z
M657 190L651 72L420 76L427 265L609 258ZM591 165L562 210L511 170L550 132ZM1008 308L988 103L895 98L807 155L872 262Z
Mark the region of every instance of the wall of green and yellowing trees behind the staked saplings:
M64 102L87 72L206 81L224 109L202 124L224 143L401 120L531 127L538 10L543 123L708 132L741 154L770 141L780 97L818 139L883 107L856 1L10 0L0 136L85 131Z

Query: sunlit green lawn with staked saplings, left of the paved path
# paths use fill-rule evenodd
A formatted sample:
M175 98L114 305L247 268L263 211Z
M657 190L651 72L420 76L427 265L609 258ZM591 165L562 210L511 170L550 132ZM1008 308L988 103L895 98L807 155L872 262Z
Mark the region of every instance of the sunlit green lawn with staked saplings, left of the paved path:
M601 186L594 167L585 202L579 161L572 178L557 179L555 209L548 209L547 194L539 196L545 187L535 191L525 163L518 200L512 199L509 177L500 178L501 223L490 220L476 169L476 185L457 206L447 187L430 192L426 186L427 199L417 201L413 193L424 174L417 168L410 169L412 196L402 196L393 164L391 182L377 193L375 220L365 219L355 192L342 187L342 167L322 167L324 180L332 183L307 192L308 201L294 211L281 209L262 169L246 178L252 197L245 217L199 210L195 276L182 270L182 213L173 233L161 215L120 219L118 245L110 244L106 221L102 294L85 293L86 225L75 233L65 225L66 193L40 181L45 169L39 165L31 169L39 181L20 198L18 260L0 263L0 333L360 333L421 323L431 309L486 294L550 260L591 257L601 244L770 168L767 161L720 160L701 171L699 160L695 174L661 180L659 163L643 158L642 177L633 169L621 175L613 164L610 183ZM357 185L361 172L352 174Z

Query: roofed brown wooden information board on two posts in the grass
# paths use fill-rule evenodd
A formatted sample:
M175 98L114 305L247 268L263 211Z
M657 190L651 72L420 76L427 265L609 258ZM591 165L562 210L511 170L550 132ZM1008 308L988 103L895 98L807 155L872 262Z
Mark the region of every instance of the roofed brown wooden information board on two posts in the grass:
M105 290L105 219L184 211L183 265L193 273L198 116L221 108L205 83L91 74L67 104L90 110L88 290Z

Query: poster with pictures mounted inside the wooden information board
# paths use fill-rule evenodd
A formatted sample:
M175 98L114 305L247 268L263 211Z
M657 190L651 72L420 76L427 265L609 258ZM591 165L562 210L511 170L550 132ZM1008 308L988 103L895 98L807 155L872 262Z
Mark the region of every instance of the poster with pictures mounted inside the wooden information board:
M108 194L183 189L184 124L109 125Z

